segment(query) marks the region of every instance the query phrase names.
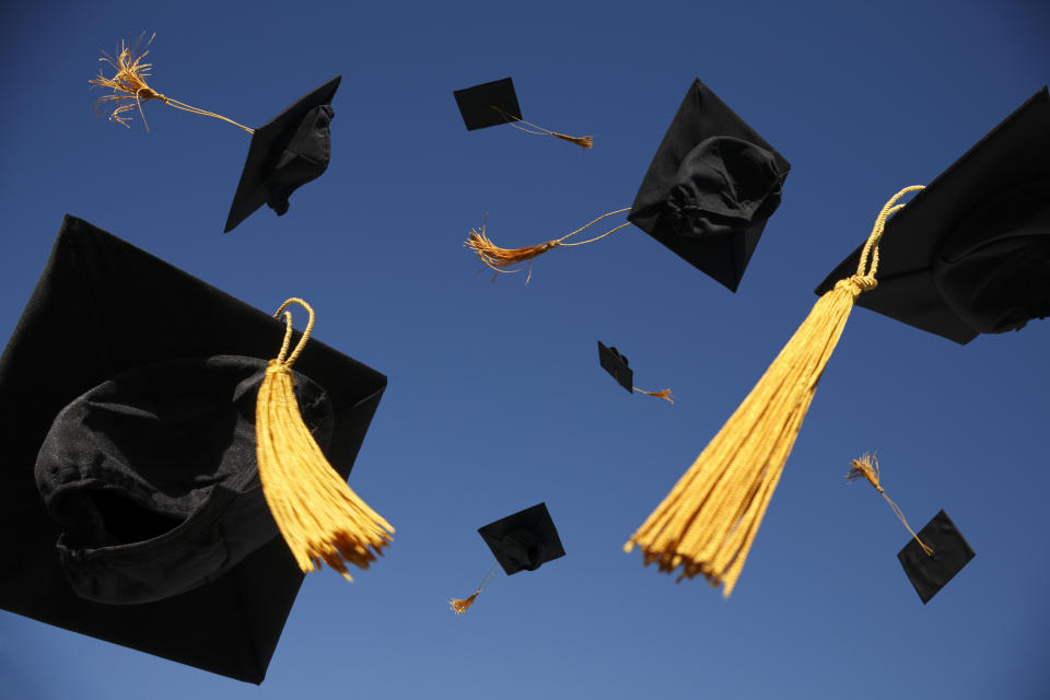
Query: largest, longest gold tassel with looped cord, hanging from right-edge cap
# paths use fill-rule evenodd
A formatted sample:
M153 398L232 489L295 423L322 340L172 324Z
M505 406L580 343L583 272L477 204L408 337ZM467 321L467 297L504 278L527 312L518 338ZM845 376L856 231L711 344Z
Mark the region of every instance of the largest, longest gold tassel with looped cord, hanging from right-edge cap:
M853 300L876 285L878 241L906 187L886 202L864 245L856 273L825 293L722 430L670 493L623 546L638 545L678 581L702 574L733 592L744 561L791 454L824 368L842 334ZM871 258L871 262L868 262Z

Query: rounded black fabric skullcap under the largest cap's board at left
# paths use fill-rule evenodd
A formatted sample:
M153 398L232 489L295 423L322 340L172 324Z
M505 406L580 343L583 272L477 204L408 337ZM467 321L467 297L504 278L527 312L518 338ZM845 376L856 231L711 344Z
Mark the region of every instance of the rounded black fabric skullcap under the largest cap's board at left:
M124 372L59 412L36 483L62 530L77 595L160 600L213 581L278 535L258 478L255 401L266 361L218 355ZM331 402L294 373L324 450Z

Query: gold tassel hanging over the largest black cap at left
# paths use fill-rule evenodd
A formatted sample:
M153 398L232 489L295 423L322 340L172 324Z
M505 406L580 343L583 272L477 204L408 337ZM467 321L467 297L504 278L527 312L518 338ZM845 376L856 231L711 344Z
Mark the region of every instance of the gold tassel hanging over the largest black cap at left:
M292 314L289 304L310 314L303 337L291 354ZM284 342L266 368L255 409L256 454L259 480L273 520L304 573L325 562L353 581L347 563L368 569L394 528L362 501L331 468L303 423L292 383L292 364L314 327L314 310L301 299L290 299L273 314L284 313Z

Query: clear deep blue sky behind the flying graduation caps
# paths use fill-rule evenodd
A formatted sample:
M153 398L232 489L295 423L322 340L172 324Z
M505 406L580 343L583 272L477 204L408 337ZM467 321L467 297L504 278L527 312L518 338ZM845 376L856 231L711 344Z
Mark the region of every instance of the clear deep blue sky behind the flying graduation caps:
M250 126L342 74L331 165L287 215L222 234L242 131L92 115L100 51L143 30L155 89ZM389 377L351 486L397 527L352 585L307 578L261 687L0 611L0 695L1047 697L1048 322L962 347L858 308L732 598L620 547L883 202L1047 83L1050 5L14 0L0 38L0 336L67 212L259 308L305 298ZM526 119L595 148L467 132L452 91L506 75ZM792 163L739 291L634 228L490 284L466 233L488 213L537 244L629 207L695 78ZM598 339L675 405L620 389ZM912 525L943 508L977 551L926 606L907 533L843 479L867 451ZM568 556L454 616L491 561L476 528L538 501Z

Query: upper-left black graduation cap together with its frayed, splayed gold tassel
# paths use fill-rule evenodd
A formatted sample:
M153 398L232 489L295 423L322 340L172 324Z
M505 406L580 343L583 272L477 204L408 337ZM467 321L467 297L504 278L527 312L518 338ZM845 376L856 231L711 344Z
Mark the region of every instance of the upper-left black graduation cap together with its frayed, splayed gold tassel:
M336 77L307 93L284 112L258 129L252 129L222 115L194 107L173 97L156 92L147 83L152 63L143 61L148 50L139 51L139 37L133 45L121 43L116 57L103 54L101 60L117 72L108 78L98 72L89 82L113 90L113 94L100 97L95 103L114 106L110 121L129 126L129 113L138 109L145 121L142 103L156 100L170 107L221 119L252 135L248 156L241 174L241 182L230 207L224 231L233 231L256 209L268 205L277 215L288 211L288 198L302 185L315 179L328 167L331 155L331 142L328 125L335 113L331 98L339 88L341 77ZM156 35L150 37L145 46ZM149 126L147 126L149 130Z

